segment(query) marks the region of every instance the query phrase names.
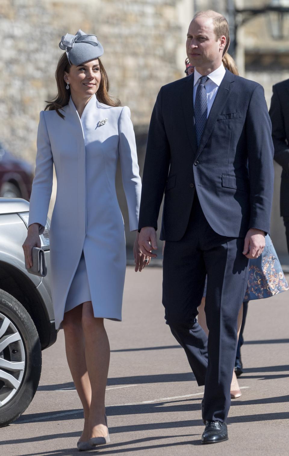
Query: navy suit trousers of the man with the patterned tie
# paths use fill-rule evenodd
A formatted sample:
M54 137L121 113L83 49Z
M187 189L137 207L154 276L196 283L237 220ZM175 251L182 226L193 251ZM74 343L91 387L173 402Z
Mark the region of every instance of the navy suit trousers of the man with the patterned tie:
M248 282L243 238L215 233L195 193L186 233L165 242L163 305L165 319L184 348L198 385L205 385L205 420L225 421L237 350L237 316ZM205 279L209 337L196 321Z

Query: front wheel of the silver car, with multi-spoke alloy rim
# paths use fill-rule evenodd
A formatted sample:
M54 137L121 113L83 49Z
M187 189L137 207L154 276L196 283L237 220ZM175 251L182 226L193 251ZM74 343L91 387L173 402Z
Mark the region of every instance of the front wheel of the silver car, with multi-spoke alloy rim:
M0 427L16 420L36 393L41 345L26 309L0 290Z

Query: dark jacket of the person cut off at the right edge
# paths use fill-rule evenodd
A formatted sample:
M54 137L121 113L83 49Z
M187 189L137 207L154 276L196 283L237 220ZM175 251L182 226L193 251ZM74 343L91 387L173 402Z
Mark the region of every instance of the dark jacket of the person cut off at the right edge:
M280 210L289 216L289 79L273 86L269 114L272 121L274 160L282 166Z

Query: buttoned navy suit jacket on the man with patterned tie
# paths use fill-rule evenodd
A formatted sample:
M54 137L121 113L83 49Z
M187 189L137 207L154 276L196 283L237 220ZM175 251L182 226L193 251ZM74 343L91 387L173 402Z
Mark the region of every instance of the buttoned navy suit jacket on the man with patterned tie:
M160 238L180 240L194 192L212 229L245 237L249 228L269 232L274 167L271 121L263 87L226 74L217 91L199 147L193 108L194 75L160 89L151 116L139 230L157 229L165 192Z

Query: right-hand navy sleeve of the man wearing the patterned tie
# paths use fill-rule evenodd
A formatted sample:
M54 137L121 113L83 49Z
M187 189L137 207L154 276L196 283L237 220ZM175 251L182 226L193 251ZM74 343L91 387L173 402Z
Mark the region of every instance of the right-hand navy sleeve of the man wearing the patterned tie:
M246 131L251 209L248 228L258 228L269 233L274 189L274 147L264 89L260 84L251 95Z

